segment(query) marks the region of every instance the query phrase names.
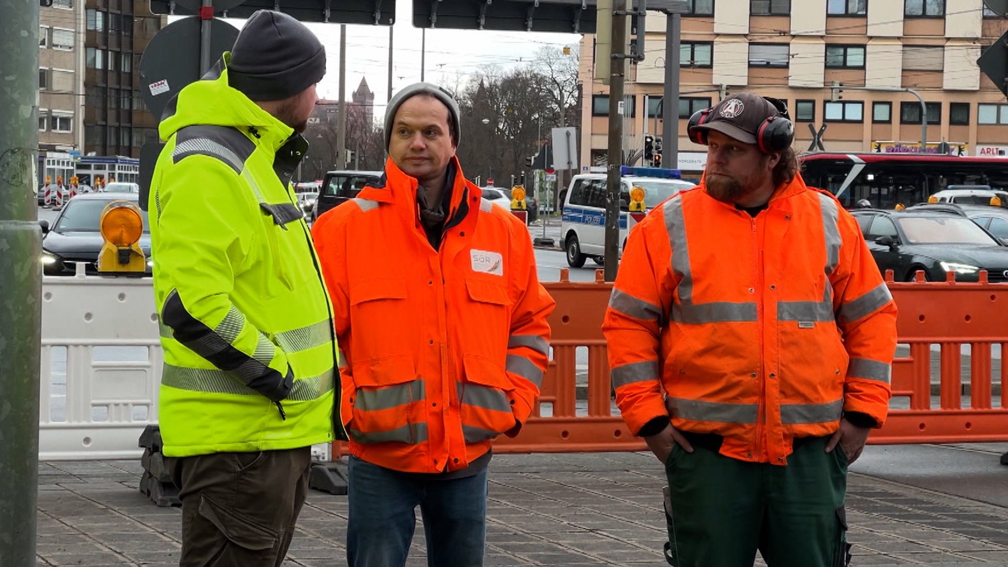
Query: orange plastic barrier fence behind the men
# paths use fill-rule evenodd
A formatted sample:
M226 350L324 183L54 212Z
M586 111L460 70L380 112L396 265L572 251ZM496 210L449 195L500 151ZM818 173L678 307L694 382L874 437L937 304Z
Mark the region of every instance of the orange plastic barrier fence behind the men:
M988 283L986 272L981 272L979 283L894 283L891 272L886 278L899 307L901 348L893 363L893 409L885 427L873 431L869 442L1008 441L1008 407L1003 399L996 406L992 403L991 352L992 345L999 345L1008 356L1008 284ZM596 272L595 283L566 279L568 271L562 270L561 281L543 284L556 300L556 309L549 320L552 357L533 417L516 438L498 437L495 452L646 448L614 411L611 397L602 319L612 285L602 281L601 270ZM967 407L962 394L964 345L971 348ZM587 368L577 363L578 348L587 350ZM940 382L933 387L939 398L936 407L931 402L932 359L940 369ZM997 384L1008 383L1008 367L1001 366L997 376ZM587 392L587 401L578 395L579 390ZM1001 398L1000 393L997 397ZM334 455L344 449L342 444L334 445Z

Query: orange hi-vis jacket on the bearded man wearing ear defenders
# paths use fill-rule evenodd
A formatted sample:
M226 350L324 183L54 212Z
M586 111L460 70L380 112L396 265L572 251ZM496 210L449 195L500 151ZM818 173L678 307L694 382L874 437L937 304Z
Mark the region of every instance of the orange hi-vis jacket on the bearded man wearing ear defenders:
M896 305L854 218L800 176L755 218L702 182L631 232L603 330L633 432L724 436L721 453L786 464L793 437L843 412L885 421Z

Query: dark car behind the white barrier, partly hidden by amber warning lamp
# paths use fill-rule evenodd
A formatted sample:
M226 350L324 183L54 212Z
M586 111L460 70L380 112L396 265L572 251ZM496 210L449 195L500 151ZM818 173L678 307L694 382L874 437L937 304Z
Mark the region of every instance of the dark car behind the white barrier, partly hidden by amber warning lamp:
M73 276L77 273L77 263L87 264L89 275L98 274L98 253L104 240L101 234L102 210L114 200L137 202L136 193L87 193L79 194L67 201L59 216L50 227L46 221L39 221L42 228L42 273L46 276ZM140 250L147 257L145 276L151 275L154 265L150 258L150 226L147 211L140 211L143 220L143 234L140 236Z

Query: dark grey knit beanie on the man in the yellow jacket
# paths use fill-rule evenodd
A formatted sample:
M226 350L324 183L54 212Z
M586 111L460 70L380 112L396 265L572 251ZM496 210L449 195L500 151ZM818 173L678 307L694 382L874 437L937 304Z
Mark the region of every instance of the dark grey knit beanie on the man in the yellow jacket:
M228 83L253 101L282 101L326 75L326 48L304 24L258 10L242 27L228 63Z

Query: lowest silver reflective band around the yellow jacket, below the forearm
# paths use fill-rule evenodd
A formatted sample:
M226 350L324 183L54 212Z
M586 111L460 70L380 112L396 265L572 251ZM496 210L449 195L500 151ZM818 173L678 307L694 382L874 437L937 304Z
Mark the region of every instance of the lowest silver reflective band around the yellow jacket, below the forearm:
M261 396L245 386L236 373L218 369L188 369L165 363L161 371L161 384L191 392ZM299 402L314 400L333 390L333 371L330 369L319 376L295 380L287 399Z

